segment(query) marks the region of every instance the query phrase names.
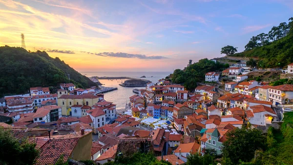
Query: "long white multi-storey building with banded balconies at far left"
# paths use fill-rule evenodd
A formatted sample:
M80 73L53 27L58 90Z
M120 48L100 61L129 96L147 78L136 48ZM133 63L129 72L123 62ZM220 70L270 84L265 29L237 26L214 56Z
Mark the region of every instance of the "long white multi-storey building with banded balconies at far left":
M24 96L5 96L8 112L31 113L34 110L34 100Z

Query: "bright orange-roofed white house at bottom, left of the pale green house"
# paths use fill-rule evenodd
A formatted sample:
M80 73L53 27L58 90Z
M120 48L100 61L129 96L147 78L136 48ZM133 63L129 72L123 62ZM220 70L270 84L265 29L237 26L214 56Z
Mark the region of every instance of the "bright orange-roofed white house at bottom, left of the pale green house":
M180 144L174 151L174 154L185 163L187 162L188 156L195 153L200 153L200 144L196 142Z

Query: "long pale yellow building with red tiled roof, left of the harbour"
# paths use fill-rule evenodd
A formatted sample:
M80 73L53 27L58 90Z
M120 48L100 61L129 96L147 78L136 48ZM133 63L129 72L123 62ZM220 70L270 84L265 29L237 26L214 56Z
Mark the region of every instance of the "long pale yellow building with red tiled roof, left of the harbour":
M58 98L58 105L62 107L62 115L69 115L72 105L93 106L98 103L99 97L92 94L62 95ZM70 109L69 109L70 108Z

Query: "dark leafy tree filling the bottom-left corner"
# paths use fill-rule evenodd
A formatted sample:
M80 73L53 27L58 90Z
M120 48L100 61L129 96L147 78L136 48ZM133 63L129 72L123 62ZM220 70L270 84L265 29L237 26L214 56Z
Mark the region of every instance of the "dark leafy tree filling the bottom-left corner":
M15 138L9 129L0 127L0 165L33 165L39 155L36 143Z

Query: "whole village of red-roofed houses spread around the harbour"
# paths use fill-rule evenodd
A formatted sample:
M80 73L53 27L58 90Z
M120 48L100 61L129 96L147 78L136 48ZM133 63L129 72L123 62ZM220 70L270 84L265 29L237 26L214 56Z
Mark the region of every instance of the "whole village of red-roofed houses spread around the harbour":
M0 99L0 126L17 138L34 138L41 149L38 164L55 164L63 155L103 165L124 153L124 143L144 140L158 160L181 165L207 149L222 155L226 135L235 128L265 131L293 111L293 84L247 81L249 72L245 62L208 72L193 91L167 79L148 82L122 112L95 87L61 83L54 94L49 87L31 87L29 95ZM293 63L283 72L292 77Z

